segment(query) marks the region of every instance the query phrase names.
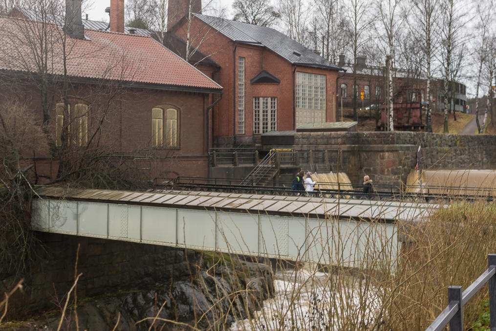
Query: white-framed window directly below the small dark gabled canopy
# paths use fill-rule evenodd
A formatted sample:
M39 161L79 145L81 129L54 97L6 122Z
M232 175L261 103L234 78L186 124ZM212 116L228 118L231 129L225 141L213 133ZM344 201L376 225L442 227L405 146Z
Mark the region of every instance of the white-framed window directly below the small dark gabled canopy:
M253 98L253 133L277 130L277 98Z

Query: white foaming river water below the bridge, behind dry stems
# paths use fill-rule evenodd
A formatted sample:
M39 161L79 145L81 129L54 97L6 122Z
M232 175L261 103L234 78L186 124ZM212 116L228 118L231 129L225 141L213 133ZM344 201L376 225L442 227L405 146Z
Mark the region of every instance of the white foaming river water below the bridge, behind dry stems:
M353 330L373 323L380 290L363 279L336 277L305 269L278 271L274 297L230 330Z

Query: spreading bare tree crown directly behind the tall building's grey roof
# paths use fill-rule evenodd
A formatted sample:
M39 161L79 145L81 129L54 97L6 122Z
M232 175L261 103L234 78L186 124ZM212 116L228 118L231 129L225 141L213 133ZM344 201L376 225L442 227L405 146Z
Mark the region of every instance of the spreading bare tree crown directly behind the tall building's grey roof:
M265 0L236 0L234 20L260 26L271 26L281 14Z

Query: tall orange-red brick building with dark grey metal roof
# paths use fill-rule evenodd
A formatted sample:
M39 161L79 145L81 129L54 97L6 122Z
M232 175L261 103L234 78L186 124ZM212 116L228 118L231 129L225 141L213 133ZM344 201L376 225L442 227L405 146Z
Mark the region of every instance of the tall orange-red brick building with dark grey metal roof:
M189 22L186 2L169 1L168 33L186 40L189 26L192 47L218 64L202 68L224 87L211 119L215 145L337 120L340 67L274 29L202 15L200 0Z

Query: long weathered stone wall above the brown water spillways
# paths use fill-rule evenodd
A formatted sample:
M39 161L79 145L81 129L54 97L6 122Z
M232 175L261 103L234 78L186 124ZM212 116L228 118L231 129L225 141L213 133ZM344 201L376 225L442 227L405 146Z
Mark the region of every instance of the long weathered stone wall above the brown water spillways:
M421 169L496 169L496 135L311 132L296 133L294 148L334 154L331 169L339 166L354 183L367 174L376 183L398 184L415 168L419 145Z

